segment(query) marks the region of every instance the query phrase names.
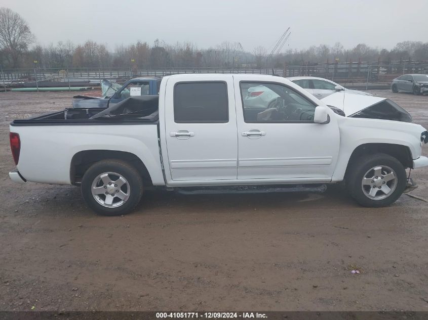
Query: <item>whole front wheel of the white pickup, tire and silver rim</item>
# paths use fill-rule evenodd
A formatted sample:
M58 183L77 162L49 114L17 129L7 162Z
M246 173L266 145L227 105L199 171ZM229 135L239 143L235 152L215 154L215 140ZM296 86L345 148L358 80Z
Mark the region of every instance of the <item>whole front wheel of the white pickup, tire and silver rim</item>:
M348 167L346 187L365 207L385 207L395 202L406 188L406 170L387 154L364 155Z

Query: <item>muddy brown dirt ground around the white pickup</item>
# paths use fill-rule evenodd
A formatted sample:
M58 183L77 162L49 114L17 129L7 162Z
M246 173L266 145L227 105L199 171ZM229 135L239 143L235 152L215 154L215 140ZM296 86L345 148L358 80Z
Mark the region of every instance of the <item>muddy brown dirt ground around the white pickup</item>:
M428 128L428 97L373 93ZM103 217L77 187L14 184L9 122L72 95L0 94L0 310L428 310L428 203L407 195L372 209L340 186L151 191L134 213ZM428 199L428 170L412 176Z

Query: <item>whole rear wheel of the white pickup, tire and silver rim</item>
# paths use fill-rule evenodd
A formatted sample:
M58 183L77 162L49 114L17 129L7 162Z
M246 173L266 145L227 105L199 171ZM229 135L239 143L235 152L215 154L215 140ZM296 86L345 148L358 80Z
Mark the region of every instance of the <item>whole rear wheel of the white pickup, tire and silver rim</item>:
M101 215L121 215L132 211L141 200L143 181L139 172L121 160L94 163L82 179L82 196Z

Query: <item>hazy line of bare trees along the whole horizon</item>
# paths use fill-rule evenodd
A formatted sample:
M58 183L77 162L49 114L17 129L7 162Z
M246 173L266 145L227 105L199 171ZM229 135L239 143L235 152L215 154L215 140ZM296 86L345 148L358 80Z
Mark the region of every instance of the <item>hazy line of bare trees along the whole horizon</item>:
M156 39L152 44L137 41L109 48L107 43L87 40L82 44L59 41L37 44L28 24L8 8L0 9L0 64L3 68L171 68L171 67L249 67L278 68L287 65L316 65L334 62L428 61L428 42L403 41L392 50L372 48L359 43L345 49L334 45L313 45L307 49L288 49L270 55L258 45L244 51L240 42L223 41L210 48L198 48L191 42L168 44Z

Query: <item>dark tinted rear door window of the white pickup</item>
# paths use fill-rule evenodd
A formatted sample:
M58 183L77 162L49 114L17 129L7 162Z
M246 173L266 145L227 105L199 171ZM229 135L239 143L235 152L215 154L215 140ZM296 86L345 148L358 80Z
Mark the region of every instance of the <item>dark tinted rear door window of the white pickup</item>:
M176 123L226 123L228 108L225 82L178 82L174 86Z

